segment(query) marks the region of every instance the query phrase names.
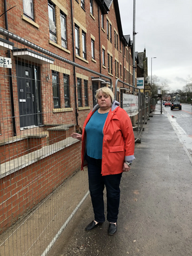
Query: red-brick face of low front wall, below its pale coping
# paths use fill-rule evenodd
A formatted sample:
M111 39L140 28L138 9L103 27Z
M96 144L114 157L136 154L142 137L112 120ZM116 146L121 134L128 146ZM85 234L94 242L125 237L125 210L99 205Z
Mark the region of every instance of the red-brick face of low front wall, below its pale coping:
M0 234L58 188L80 168L80 163L78 141L3 177L0 180Z

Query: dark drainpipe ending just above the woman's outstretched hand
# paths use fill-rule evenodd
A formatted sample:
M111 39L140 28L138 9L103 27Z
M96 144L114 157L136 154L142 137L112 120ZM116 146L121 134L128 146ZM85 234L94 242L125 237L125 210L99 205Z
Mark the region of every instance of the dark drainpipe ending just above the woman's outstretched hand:
M71 8L71 26L72 26L72 47L73 47L73 62L75 62L75 47L74 47L74 15L73 15L73 6L72 0L70 0L70 8ZM78 129L78 113L77 113L77 97L76 97L76 67L74 66L74 86L75 86L75 104L76 104L76 130ZM78 129L79 130L79 129Z

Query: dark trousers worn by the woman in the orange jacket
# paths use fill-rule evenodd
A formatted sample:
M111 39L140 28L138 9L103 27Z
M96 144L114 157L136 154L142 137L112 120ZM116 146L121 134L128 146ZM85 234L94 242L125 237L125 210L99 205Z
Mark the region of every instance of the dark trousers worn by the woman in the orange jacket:
M100 223L105 221L103 191L106 186L107 191L107 220L115 223L118 216L120 204L120 180L122 173L114 175L101 175L101 159L94 159L86 155L88 162L89 189L92 198L95 221Z

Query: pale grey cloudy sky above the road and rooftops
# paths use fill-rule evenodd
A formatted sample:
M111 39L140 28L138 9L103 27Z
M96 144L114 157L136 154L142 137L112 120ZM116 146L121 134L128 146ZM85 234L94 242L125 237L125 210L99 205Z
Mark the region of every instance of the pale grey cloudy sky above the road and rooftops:
M132 40L133 0L118 4L123 33ZM192 78L192 0L136 0L135 31L135 50L147 52L148 76L152 61L159 84L182 90Z

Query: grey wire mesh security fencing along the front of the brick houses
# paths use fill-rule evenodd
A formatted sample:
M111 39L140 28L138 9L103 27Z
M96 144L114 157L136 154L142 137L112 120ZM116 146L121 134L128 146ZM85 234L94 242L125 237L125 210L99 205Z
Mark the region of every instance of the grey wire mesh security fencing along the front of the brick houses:
M100 86L118 90L121 104L126 93L110 77L0 34L0 255L47 255L88 195L81 143L70 134L81 133ZM137 94L132 123L141 131Z

